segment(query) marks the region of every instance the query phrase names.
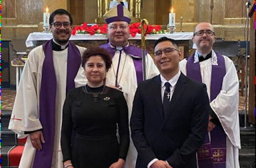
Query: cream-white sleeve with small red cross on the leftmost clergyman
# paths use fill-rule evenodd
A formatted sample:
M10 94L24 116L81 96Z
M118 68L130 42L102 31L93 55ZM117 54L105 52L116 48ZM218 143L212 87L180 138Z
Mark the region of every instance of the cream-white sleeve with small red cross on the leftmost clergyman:
M37 99L37 94L39 94L37 91L38 58L34 51L29 53L17 89L8 129L17 133L18 137L24 137L24 131L35 131L42 128L39 121L39 100Z

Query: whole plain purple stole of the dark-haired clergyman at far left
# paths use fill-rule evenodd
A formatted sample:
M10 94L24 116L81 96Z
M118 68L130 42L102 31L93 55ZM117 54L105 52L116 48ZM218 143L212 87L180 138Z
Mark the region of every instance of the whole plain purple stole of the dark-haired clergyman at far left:
M55 134L55 97L56 97L56 76L53 65L53 41L47 41L43 45L45 60L43 61L42 81L39 101L39 120L43 127L45 143L43 149L35 152L33 168L50 168L53 157L53 143ZM67 55L67 92L75 87L75 76L81 64L79 49L69 42ZM57 111L59 113L59 111ZM61 111L62 112L62 111Z

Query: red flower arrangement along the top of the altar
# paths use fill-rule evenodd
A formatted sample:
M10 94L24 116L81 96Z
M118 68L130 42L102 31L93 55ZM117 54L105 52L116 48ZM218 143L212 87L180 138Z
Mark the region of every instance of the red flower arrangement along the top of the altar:
M146 27L145 27L146 28ZM141 22L133 23L129 25L129 31L131 36L135 37L136 34L141 34ZM148 25L146 34L166 34L166 30L161 30L161 25ZM81 26L77 26L73 29L72 35L75 34L107 34L107 24L93 25L88 27L87 23L83 23Z

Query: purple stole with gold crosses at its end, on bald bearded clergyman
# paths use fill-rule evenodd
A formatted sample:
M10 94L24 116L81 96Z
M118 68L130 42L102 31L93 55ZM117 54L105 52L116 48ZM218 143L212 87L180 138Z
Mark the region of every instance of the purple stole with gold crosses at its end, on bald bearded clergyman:
M218 65L212 65L211 71L211 101L219 95L226 74L225 59L216 53ZM202 82L199 61L194 63L195 53L187 59L187 76ZM203 145L197 151L199 168L225 168L226 167L226 134L219 125L211 131L211 142L208 133Z

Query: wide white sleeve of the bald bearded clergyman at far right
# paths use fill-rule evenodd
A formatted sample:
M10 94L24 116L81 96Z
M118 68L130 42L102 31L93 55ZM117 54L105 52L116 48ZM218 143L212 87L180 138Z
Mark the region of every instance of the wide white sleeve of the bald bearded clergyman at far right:
M239 131L239 79L233 61L225 57L226 75L223 77L221 92L210 105L216 113L231 143L241 148Z

